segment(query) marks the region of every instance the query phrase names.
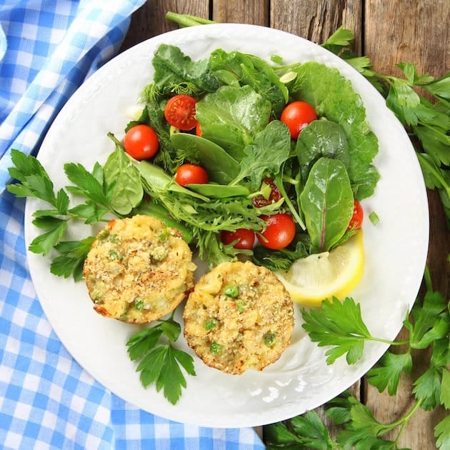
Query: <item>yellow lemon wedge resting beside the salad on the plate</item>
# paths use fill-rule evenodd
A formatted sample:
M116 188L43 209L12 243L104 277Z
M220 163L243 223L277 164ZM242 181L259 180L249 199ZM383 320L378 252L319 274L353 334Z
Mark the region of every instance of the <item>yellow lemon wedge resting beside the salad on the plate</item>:
M275 271L297 303L317 306L324 299L343 299L364 272L362 231L331 251L297 259L289 271Z

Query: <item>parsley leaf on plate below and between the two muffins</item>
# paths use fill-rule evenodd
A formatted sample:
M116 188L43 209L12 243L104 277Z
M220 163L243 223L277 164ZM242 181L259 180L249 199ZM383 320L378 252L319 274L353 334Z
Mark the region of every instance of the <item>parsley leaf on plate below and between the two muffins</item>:
M180 365L189 375L195 375L194 359L184 351L176 349L171 342L179 338L181 326L174 321L174 313L166 320L149 329L139 331L126 343L131 361L140 360L136 371L141 372L140 380L144 388L155 384L156 391L163 390L164 397L176 404L181 396L181 388L186 388L186 379ZM169 339L161 344L161 336Z

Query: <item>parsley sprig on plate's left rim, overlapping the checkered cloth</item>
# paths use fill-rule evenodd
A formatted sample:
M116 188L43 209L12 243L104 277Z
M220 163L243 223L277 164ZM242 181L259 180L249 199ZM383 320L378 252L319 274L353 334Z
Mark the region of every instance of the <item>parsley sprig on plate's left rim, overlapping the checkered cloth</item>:
M76 185L67 191L87 197L84 204L70 208L67 191L61 188L55 192L49 174L34 156L13 149L11 160L14 166L9 168L9 174L19 182L7 185L6 189L16 197L34 197L50 205L49 209L34 211L33 224L43 232L31 241L29 250L45 256L51 249L56 249L60 255L52 261L51 273L65 277L73 274L78 281L82 277L82 265L94 237L89 236L81 241L64 242L62 239L71 219L82 219L86 224L94 224L103 220L110 211L108 196L102 184L101 167L96 165L89 172L81 164L66 164L66 174Z

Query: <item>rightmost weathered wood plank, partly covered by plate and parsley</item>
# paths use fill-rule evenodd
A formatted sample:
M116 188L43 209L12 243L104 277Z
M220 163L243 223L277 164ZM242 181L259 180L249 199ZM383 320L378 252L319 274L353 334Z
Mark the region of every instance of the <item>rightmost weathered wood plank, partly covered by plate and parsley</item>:
M401 76L399 62L413 62L419 73L441 76L450 67L449 42L450 2L448 0L368 0L364 24L364 53L371 58L374 69L382 74ZM434 288L449 293L450 271L446 254L450 251L450 234L435 192L429 192L430 246L428 264ZM399 336L405 335L403 330ZM389 423L406 414L414 404L411 382L427 366L417 361L414 374L403 377L395 397L379 394L366 384L366 404L379 421ZM417 411L409 421L399 446L434 448L433 428L444 417L444 409L433 413ZM391 434L393 439L395 434Z

